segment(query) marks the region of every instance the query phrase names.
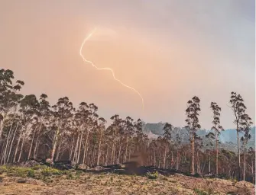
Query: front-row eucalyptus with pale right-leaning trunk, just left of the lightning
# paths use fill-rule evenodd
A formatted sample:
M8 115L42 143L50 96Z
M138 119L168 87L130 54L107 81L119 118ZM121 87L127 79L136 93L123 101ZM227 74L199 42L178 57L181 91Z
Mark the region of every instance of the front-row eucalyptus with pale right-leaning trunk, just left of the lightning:
M51 161L54 159L57 145L60 147L62 136L66 134L66 130L70 126L70 120L72 120L74 110L72 102L67 97L60 98L52 108L53 142L50 154Z

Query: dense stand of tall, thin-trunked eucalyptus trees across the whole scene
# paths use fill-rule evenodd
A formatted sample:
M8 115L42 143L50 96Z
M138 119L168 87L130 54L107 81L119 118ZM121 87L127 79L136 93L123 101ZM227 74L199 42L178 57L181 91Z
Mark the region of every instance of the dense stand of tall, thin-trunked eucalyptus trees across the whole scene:
M23 86L14 72L0 70L0 165L34 158L105 166L125 163L135 152L143 152L145 166L254 182L255 149L247 147L253 123L245 101L236 92L230 94L229 101L238 146L238 151L232 152L219 147L219 133L224 129L222 109L215 102L209 102L212 129L207 138L212 148L197 135L201 128L197 96L184 102L186 126L180 130L189 133L190 142L183 143L179 136L172 136L175 127L171 123L165 123L163 136L149 139L140 119L122 119L115 114L107 126L96 104L82 101L73 107L70 99L63 97L50 105L47 94L21 94Z

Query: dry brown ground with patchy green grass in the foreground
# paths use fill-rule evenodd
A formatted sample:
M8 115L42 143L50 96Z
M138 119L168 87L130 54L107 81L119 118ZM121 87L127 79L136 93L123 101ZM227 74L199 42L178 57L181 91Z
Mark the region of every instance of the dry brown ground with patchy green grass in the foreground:
M61 174L44 179L0 174L0 194L255 194L254 185L174 174L157 178L127 174Z

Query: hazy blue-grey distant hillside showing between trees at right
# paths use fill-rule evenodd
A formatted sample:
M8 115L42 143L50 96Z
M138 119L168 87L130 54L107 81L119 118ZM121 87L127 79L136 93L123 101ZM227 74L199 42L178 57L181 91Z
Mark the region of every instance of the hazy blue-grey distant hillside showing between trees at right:
M148 135L150 139L157 139L158 136L162 136L164 133L164 123L144 123L143 131ZM197 134L204 142L207 141L206 134L209 133L208 129L200 129ZM175 127L172 132L172 137L179 134L183 143L189 142L189 133L186 129ZM242 133L239 133L241 138ZM228 149L236 150L237 134L235 129L225 129L219 135L219 141L222 142L222 146L228 147ZM255 148L255 126L251 127L251 139L248 142L248 147Z

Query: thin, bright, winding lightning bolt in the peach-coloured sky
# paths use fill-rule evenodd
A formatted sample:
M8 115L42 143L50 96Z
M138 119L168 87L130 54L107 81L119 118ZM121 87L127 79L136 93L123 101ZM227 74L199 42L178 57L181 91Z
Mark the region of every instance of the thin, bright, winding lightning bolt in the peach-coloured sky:
M109 68L109 67L106 67L106 68L98 68L93 62L87 60L83 54L82 54L82 50L83 50L83 46L84 44L86 43L87 40L89 40L90 37L92 37L92 34L94 34L96 31L96 29L92 30L92 33L90 33L84 40L83 40L83 43L82 43L82 46L80 47L80 56L83 58L83 61L86 62L86 63L89 63L91 64L94 68L96 68L97 70L109 70L110 72L112 72L112 76L113 78L115 79L115 81L119 82L121 85L123 85L125 88L129 88L131 89L132 91L134 91L136 94L139 95L139 97L141 98L141 103L142 103L142 109L144 110L144 99L142 98L140 92L138 92L136 89L134 88L131 88L131 86L128 86L128 85L125 85L125 83L121 82L118 78L115 77L115 72L113 71L113 69Z

